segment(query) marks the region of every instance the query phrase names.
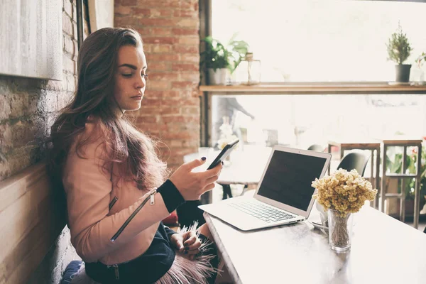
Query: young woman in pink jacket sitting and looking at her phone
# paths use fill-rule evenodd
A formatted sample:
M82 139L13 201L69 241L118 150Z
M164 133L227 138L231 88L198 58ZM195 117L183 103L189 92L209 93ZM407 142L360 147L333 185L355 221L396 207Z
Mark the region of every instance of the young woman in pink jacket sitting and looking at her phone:
M207 226L163 226L186 200L214 187L222 165L205 158L168 176L151 138L126 119L141 107L147 62L140 35L102 28L78 55L77 92L52 126L48 169L67 200L72 245L99 283L214 283L217 250Z

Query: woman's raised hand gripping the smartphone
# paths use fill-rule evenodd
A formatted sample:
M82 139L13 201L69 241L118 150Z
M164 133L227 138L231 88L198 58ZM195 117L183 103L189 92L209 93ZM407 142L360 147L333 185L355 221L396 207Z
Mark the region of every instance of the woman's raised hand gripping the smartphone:
M181 165L169 180L178 188L180 194L185 201L200 200L204 192L212 190L214 182L219 178L222 170L222 163L219 163L211 170L204 172L192 173L194 168L205 163L205 159L196 159Z

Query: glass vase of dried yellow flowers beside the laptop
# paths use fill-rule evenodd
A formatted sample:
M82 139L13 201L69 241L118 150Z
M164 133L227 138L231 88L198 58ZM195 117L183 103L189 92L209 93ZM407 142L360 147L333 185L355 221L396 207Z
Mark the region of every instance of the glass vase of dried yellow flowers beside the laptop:
M312 187L317 189L313 197L327 208L329 245L335 251L351 248L353 213L359 212L366 200L374 200L377 190L356 170L339 170L332 175L315 179Z

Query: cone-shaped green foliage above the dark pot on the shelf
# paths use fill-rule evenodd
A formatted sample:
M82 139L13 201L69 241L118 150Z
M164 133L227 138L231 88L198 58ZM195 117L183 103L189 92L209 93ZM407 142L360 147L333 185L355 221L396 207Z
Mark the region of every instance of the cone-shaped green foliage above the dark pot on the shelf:
M399 23L398 31L391 35L386 46L388 48L388 60L392 60L398 65L403 64L403 62L410 56L411 50L413 50L410 43L408 43L407 35L403 33L403 28L401 28Z

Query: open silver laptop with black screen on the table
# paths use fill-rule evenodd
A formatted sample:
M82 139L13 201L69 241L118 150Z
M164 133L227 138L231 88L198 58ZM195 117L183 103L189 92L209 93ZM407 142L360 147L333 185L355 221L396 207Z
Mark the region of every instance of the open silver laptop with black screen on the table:
M330 153L274 146L253 197L234 197L200 209L242 231L304 221L310 214L315 188L324 176Z

